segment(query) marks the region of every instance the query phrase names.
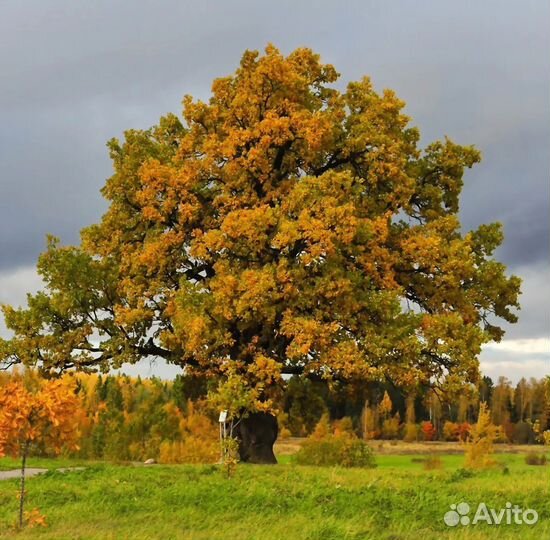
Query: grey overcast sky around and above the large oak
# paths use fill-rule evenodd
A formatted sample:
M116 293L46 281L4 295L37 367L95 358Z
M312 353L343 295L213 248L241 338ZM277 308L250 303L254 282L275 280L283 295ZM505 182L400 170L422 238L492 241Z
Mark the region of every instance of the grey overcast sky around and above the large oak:
M550 373L546 0L0 0L0 301L39 287L46 233L74 243L100 218L109 138L179 113L184 94L207 98L213 78L268 42L313 48L339 84L370 75L395 89L423 143L477 145L464 226L501 221L497 256L524 279L520 323L485 348L482 368Z

